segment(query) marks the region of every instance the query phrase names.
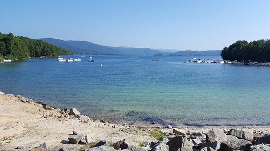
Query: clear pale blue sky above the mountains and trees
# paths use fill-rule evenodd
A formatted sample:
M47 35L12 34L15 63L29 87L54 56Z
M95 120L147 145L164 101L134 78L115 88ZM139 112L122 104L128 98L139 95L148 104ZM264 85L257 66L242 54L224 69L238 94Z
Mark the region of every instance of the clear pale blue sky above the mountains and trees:
M0 32L109 46L220 50L270 39L270 0L0 0Z

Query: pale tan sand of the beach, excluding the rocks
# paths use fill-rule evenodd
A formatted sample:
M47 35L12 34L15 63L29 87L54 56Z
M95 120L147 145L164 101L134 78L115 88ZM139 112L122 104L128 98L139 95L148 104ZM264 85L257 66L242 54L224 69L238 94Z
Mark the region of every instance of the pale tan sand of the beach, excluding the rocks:
M80 134L90 136L90 142L106 140L116 142L122 139L133 142L156 142L157 139L149 135L151 129L135 127L135 130L125 131L130 126L119 126L110 123L89 120L81 122L78 118L59 118L59 113L45 109L41 104L24 103L18 97L7 94L0 94L0 151L8 151L17 148L22 144L27 144L25 151L48 150L58 151L62 147L80 150L89 147L87 145L72 144L68 141L69 134L73 130ZM46 115L54 115L44 118ZM59 114L59 115L58 115ZM151 125L156 127L155 125ZM243 128L243 127L238 127ZM269 126L244 127L257 131L270 132ZM162 128L172 131L169 128ZM207 133L211 127L207 128L182 128L188 132ZM224 131L228 127L219 127ZM46 142L48 149L39 149L41 143ZM36 148L37 147L37 148ZM24 151L24 150L21 150Z

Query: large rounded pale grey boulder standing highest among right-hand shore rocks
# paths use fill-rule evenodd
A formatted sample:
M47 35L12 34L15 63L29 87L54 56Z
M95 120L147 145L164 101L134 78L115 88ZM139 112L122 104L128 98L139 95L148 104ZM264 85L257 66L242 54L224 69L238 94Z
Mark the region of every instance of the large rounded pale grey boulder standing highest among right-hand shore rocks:
M207 142L224 142L227 140L226 134L219 130L219 129L211 129L206 134L206 141Z

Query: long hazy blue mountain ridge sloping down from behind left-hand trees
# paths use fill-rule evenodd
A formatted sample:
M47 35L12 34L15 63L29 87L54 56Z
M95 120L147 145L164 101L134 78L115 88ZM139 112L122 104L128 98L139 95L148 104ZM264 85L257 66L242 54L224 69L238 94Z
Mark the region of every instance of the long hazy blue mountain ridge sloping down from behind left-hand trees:
M38 40L66 48L74 54L153 56L154 54L161 53L158 50L150 48L111 47L86 41L63 41L53 38L42 38Z

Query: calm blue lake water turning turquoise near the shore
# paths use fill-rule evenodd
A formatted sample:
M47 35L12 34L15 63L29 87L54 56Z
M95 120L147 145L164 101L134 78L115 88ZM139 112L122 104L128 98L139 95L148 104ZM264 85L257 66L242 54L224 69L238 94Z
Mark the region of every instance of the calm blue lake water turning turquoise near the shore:
M153 56L91 56L94 63L89 57L1 64L0 91L118 124L270 125L270 67L185 64L191 58L179 56L159 62Z

